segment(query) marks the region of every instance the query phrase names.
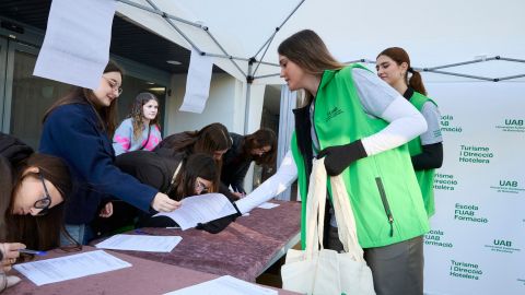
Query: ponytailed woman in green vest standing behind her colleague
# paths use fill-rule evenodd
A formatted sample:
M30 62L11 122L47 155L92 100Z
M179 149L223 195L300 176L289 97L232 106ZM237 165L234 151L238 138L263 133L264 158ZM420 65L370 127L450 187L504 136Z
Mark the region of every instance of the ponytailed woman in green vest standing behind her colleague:
M443 164L443 138L441 114L434 101L427 97L421 74L410 67L410 58L400 47L390 47L377 55L377 75L409 101L427 120L429 129L408 143L413 169L423 194L427 214L432 216L434 206L435 169Z

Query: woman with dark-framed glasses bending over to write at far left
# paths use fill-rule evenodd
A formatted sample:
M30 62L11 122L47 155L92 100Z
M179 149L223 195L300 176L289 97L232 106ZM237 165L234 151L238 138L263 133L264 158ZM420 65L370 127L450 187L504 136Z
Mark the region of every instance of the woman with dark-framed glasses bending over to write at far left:
M49 250L60 245L63 205L71 191L66 163L33 153L25 143L0 133L0 260L4 271L25 247ZM0 284L1 286L1 284Z

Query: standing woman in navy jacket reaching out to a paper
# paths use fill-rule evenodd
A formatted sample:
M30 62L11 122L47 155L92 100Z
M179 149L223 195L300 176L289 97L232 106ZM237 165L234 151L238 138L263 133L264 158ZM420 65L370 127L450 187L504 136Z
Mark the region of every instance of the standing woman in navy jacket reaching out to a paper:
M66 228L81 244L93 236L90 223L109 196L144 212L151 209L171 212L180 205L114 164L110 138L121 83L122 70L109 61L95 90L73 87L44 116L39 150L63 158L71 170L75 187L66 210ZM102 215L109 216L112 211L112 206L106 205Z

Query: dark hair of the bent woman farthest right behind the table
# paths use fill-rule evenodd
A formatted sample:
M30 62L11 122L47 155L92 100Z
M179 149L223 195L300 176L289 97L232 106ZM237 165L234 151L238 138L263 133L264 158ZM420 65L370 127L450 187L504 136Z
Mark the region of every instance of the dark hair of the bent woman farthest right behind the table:
M244 137L243 145L245 156L252 157L257 165L267 166L273 164L276 161L277 137L276 132L273 132L271 129L261 128L254 133ZM253 150L260 149L262 146L270 146L271 150L261 156L252 155L250 152Z

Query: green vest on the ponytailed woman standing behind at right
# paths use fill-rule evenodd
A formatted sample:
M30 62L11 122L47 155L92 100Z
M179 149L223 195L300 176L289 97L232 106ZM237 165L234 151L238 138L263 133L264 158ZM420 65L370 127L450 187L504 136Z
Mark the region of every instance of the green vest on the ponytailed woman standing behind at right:
M421 111L423 104L431 102L436 105L434 101L422 95L419 92L413 92L412 97L410 97L410 103ZM438 106L438 105L436 105ZM410 156L419 155L423 152L421 148L421 138L417 137L408 143L408 151ZM424 209L427 210L427 215L430 217L434 215L434 175L435 169L425 169L417 170L416 177L418 178L419 187L421 188L421 194L423 196Z

